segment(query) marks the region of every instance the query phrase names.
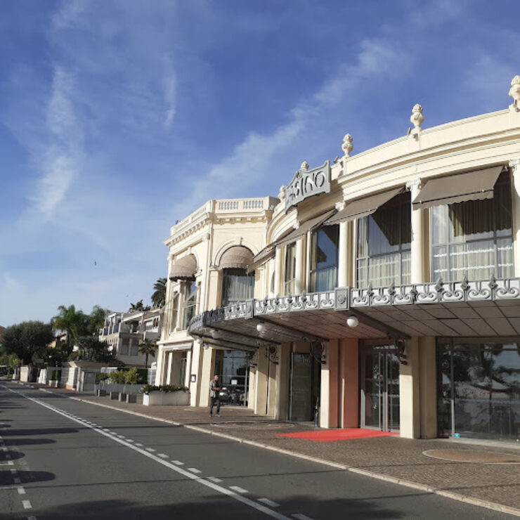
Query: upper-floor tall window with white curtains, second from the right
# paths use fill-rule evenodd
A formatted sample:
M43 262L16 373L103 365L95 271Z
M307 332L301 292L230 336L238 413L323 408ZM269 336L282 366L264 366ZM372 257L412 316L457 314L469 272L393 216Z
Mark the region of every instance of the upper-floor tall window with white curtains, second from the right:
M402 193L358 219L358 287L410 283L410 193Z

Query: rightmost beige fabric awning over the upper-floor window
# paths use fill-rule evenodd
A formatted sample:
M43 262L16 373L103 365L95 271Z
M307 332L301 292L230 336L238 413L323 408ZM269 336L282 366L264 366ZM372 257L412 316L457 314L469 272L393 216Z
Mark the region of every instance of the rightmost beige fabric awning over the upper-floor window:
M467 174L432 178L412 201L413 207L425 209L464 200L492 199L493 186L502 168L495 166L485 170L469 171Z

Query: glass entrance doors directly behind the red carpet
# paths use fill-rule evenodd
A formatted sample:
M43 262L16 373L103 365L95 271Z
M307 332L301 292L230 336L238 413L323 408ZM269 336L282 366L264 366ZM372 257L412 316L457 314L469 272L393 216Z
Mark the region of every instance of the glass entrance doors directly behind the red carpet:
M362 428L399 430L399 360L394 345L365 346L361 356Z

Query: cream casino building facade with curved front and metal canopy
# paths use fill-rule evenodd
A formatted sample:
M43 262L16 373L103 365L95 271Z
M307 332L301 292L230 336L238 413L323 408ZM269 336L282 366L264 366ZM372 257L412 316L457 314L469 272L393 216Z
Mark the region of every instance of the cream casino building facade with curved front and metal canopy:
M431 129L415 105L408 135L351 155L346 134L342 157L304 162L259 211L209 201L174 226L170 274L193 255L198 295L183 323L187 282L169 282L157 382L186 351L192 405L207 405L212 374L242 351L247 378L230 382L259 414L517 440L520 77L509 96ZM254 291L223 301L233 246L254 254L241 264Z

